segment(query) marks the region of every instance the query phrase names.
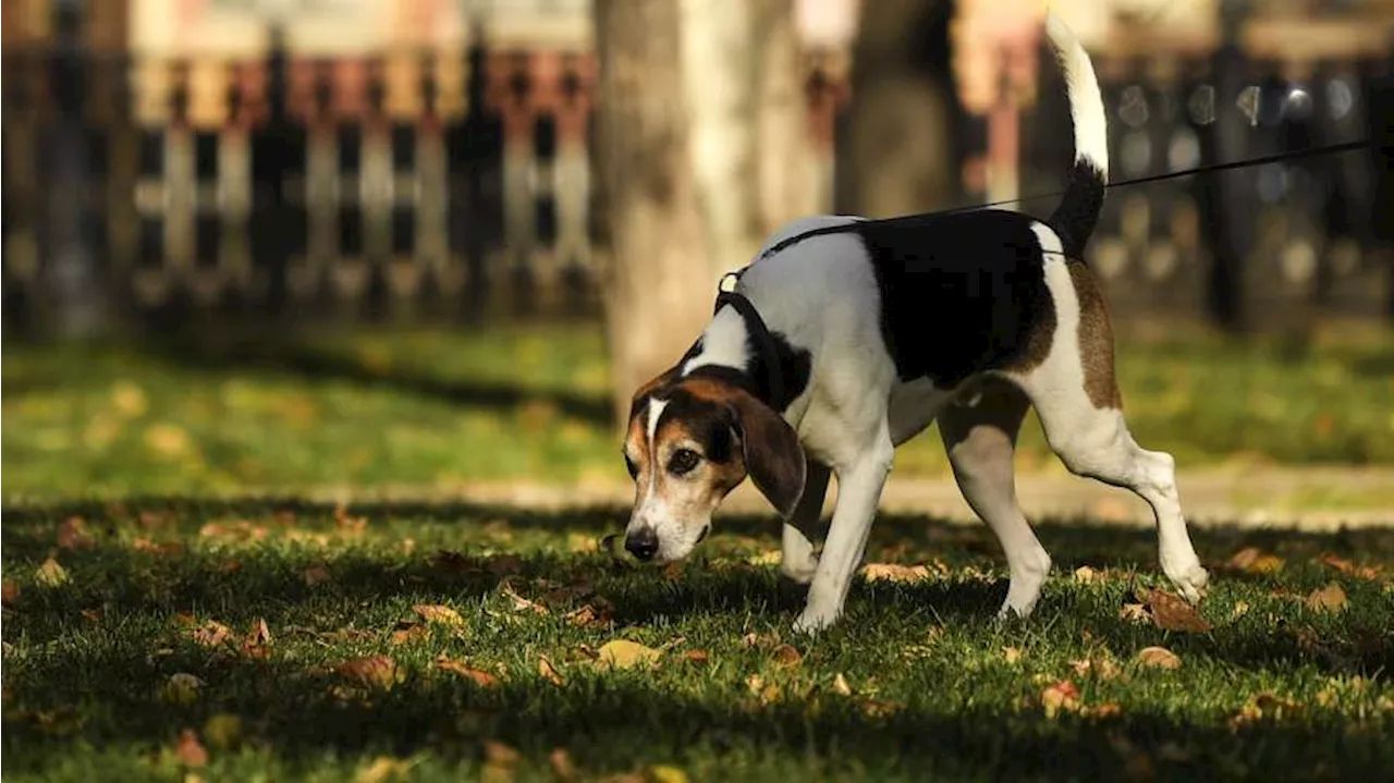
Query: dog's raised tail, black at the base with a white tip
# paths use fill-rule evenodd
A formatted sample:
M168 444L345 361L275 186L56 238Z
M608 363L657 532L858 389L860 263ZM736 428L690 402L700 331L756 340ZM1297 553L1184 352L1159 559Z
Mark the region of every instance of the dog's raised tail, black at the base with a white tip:
M1046 14L1046 38L1065 77L1069 117L1075 125L1075 169L1065 195L1050 216L1065 252L1079 258L1094 233L1108 183L1108 118L1089 53L1054 11Z

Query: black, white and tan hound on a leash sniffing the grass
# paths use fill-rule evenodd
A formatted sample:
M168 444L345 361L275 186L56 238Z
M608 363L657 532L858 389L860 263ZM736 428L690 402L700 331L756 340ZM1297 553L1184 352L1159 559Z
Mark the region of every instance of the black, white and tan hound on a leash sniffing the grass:
M965 499L1006 556L998 616L1025 617L1051 567L1012 474L1034 405L1073 474L1151 506L1163 571L1200 600L1209 574L1181 514L1175 463L1128 431L1108 313L1082 255L1108 173L1103 99L1069 28L1050 15L1046 33L1075 134L1055 212L818 216L781 228L722 280L717 312L686 355L633 397L631 555L686 557L749 475L785 521L781 573L809 585L795 628L825 628L861 563L895 447L938 421ZM838 499L820 556L810 536L829 474Z

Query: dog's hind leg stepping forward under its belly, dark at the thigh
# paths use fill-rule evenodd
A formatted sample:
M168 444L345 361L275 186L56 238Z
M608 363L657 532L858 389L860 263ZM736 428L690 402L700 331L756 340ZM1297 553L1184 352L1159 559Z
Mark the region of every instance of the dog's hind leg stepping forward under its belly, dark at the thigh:
M953 403L940 412L940 435L963 499L993 528L1006 555L1011 584L998 617L1030 614L1051 566L1016 503L1012 457L1029 407L1019 389L990 380L972 403Z

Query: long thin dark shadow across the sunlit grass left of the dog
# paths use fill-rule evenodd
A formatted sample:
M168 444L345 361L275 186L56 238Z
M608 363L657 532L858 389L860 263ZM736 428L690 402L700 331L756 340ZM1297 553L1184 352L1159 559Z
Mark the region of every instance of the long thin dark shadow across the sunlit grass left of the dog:
M351 355L268 336L146 337L138 347L148 355L191 369L262 371L307 380L347 380L473 408L513 410L527 401L544 401L567 417L602 426L609 426L613 417L611 403L604 396L485 380L447 380L401 369L378 372Z

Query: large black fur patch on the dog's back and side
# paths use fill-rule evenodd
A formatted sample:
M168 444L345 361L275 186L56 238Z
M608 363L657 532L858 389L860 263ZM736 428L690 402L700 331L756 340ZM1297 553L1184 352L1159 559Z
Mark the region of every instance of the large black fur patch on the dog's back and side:
M1022 357L1050 312L1034 220L1004 210L860 223L901 380L953 386Z

